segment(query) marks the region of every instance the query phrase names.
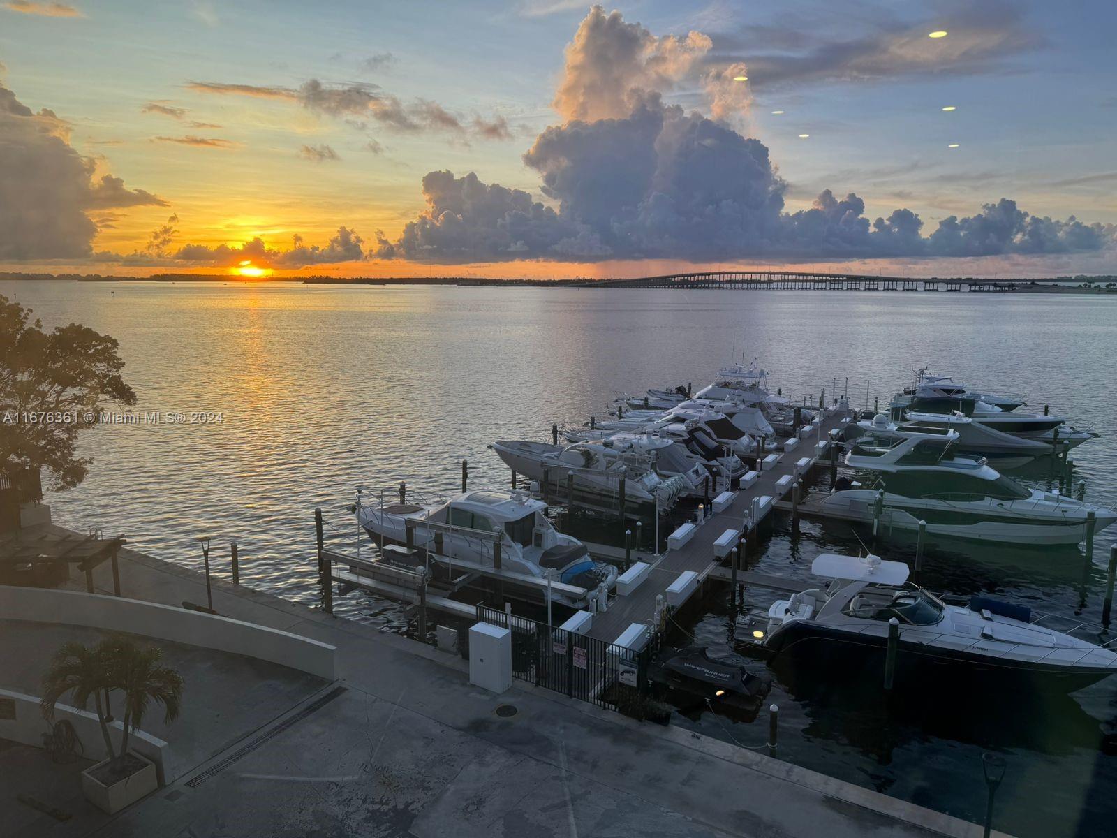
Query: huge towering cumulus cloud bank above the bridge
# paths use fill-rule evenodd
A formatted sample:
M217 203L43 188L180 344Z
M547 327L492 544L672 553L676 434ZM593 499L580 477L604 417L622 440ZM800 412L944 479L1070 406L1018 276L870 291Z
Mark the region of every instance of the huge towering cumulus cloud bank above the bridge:
M700 34L656 37L594 7L566 49L554 99L564 121L523 156L551 203L471 172L430 172L426 210L394 241L378 232L376 255L714 261L1080 253L1115 244L1111 227L1031 216L1008 199L951 216L927 237L909 209L870 221L853 192L825 190L810 209L785 212L787 184L767 147L734 130L748 93L733 79L751 79L754 67L706 73L714 118L662 102L708 49Z

